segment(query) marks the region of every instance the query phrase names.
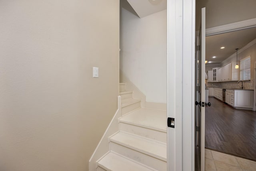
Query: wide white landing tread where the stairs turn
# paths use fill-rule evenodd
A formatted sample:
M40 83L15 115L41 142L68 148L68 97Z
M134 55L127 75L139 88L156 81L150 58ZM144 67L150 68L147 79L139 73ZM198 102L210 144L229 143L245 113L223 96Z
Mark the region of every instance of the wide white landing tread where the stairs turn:
M122 118L120 122L166 132L166 111L148 108L137 109Z

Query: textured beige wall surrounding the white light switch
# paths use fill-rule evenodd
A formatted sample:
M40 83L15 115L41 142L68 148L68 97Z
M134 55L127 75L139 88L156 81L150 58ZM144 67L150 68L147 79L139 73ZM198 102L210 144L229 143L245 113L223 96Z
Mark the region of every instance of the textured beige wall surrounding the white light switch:
M117 110L119 0L1 0L0 37L0 171L88 170Z

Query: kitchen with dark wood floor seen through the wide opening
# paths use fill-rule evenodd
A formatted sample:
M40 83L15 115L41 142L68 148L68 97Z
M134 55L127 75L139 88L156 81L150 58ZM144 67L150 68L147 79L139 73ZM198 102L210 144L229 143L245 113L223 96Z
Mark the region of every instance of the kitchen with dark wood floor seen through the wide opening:
M236 35L238 35L238 37L236 37ZM256 161L256 112L254 111L256 94L256 72L254 69L256 68L256 55L254 55L256 53L256 28L242 29L232 31L230 33L211 36L206 37L206 60L208 60L208 62L212 62L210 64L206 64L206 71L211 71L208 72L209 79L209 74L213 74L213 70L216 70L217 75L213 75L213 77L217 76L217 80L206 80L206 87L214 88L215 90L214 94L211 94L212 97L209 97L209 102L212 104L212 106L206 106L205 147L214 151ZM248 38L247 41L245 40L246 37ZM226 39L230 39L230 42L227 43ZM234 41L234 39L237 41ZM240 42L238 42L239 40ZM210 43L207 41L210 41ZM214 45L214 41L217 45ZM242 42L244 42L244 45L239 44ZM218 49L214 49L215 46ZM225 51L220 49L218 46L225 47L224 50L229 50L228 46L230 46L230 50L233 50L233 53L231 53L228 58L225 58L224 56L219 61L214 60L222 57L222 51L225 53ZM210 48L211 52L207 51L208 48ZM236 48L240 49L238 52L238 62L236 61ZM218 54L213 55L213 53L216 53L217 51ZM234 74L234 67L236 63L238 63L239 69L236 70L236 72L238 75L240 75L241 64L239 61L248 56L250 56L251 60L251 75L249 80L243 81L243 90L240 90L241 83L238 84L238 81L240 80L239 77L234 78L234 75L231 75L230 80L218 79L218 76L221 76L218 75L218 70L226 67L228 64L231 64L230 73ZM222 72L222 77L223 74L226 73ZM231 97L230 94L228 94L228 96L226 95L227 92L224 92L224 94L222 93L222 90L224 89L233 92ZM236 92L248 91L251 91L252 93L250 94L252 95L246 95L242 98L238 98L236 96ZM225 98L224 95L226 95ZM227 102L227 98L230 98L230 102ZM236 104L236 100L238 101L239 99L242 102L246 102L249 99L249 101L251 101L250 107L239 107L238 104Z

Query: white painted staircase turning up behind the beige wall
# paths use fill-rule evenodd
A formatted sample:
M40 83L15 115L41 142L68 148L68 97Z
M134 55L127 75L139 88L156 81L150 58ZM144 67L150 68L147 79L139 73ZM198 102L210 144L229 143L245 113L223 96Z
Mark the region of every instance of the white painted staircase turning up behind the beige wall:
M98 171L166 171L166 111L141 108L140 99L120 83L122 117L119 131L109 137L109 151Z

